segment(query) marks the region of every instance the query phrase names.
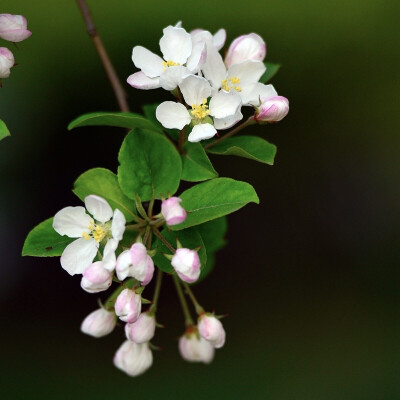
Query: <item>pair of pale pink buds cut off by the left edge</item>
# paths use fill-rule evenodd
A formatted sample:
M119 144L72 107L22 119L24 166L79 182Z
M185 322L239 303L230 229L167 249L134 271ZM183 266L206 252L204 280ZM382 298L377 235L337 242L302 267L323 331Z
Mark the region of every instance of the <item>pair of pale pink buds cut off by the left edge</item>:
M22 15L0 14L0 38L9 42L22 42L32 35ZM14 55L7 47L0 47L0 82L8 78L14 66Z

